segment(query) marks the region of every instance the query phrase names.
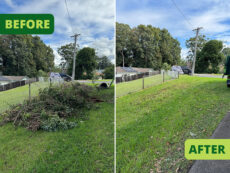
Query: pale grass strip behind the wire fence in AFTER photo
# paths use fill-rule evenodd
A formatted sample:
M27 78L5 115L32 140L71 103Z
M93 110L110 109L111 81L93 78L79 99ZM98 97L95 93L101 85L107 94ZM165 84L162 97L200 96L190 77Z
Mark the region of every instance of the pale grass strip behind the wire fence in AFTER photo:
M171 77L165 74L164 80L170 80ZM149 88L163 83L163 75L154 75L144 78L144 88ZM122 82L116 85L116 97L121 97L143 89L143 79L137 79L129 82Z

